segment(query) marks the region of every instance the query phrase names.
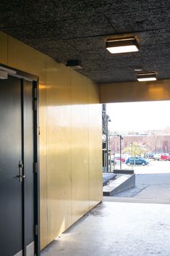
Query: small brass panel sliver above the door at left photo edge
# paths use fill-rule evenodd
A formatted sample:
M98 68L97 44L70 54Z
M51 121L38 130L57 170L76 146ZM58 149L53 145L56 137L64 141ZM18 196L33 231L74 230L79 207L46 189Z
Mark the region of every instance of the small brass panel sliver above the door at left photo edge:
M8 36L0 31L0 63L8 65Z

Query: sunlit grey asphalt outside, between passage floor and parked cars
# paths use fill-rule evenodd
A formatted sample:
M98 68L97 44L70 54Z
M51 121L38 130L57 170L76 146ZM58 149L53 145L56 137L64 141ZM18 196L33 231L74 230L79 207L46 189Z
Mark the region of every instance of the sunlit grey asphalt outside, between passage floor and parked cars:
M122 169L131 169L126 164ZM153 161L149 165L133 166L136 174L136 186L114 197L135 199L140 202L170 203L170 161ZM127 201L127 200L125 200Z

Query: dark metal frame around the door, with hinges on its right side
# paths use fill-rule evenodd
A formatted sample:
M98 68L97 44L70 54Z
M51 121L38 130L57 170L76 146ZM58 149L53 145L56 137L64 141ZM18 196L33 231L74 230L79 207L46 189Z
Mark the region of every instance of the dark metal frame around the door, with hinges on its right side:
M34 173L34 241L35 241L35 256L40 256L40 168L39 168L39 90L38 90L38 76L25 73L17 70L14 67L9 67L0 63L0 70L4 70L9 75L20 78L21 83L23 80L29 80L33 83L33 173ZM24 205L23 205L24 207ZM22 209L24 214L24 209ZM22 223L23 224L23 223ZM24 231L24 227L22 228ZM24 241L22 239L22 247ZM25 252L24 252L25 256Z

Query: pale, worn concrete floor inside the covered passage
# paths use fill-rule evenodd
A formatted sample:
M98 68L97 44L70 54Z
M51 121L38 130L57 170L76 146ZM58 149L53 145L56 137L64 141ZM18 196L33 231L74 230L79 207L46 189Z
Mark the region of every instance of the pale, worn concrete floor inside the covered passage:
M41 256L170 255L170 205L103 202Z

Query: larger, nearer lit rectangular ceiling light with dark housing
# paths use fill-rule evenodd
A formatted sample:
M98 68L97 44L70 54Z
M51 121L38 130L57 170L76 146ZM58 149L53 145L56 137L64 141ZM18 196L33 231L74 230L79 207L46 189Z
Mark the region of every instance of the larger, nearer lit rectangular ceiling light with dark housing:
M111 54L118 54L123 52L139 51L139 45L135 37L130 38L110 38L106 41L106 49Z

